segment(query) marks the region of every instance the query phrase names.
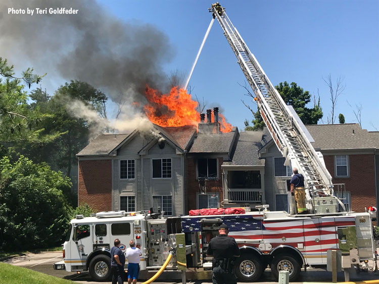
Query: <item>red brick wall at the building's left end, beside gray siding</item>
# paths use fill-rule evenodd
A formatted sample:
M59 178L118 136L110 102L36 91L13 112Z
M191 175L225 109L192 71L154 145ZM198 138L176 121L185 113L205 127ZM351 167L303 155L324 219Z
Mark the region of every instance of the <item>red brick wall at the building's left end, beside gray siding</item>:
M79 161L78 203L112 210L112 160Z

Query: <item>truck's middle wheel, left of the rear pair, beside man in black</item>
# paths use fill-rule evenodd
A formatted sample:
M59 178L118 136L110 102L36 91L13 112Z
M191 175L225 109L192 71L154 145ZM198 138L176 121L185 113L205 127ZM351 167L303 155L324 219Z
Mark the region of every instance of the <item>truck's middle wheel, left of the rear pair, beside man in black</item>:
M262 275L261 260L251 254L243 254L235 262L235 275L241 281L253 282Z

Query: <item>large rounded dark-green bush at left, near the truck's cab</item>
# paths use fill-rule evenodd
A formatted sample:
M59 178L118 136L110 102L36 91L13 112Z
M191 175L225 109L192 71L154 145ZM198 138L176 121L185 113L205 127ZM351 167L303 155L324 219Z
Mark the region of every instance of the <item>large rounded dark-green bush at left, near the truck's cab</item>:
M63 192L70 179L46 163L20 156L0 160L0 250L43 248L62 243L72 208Z

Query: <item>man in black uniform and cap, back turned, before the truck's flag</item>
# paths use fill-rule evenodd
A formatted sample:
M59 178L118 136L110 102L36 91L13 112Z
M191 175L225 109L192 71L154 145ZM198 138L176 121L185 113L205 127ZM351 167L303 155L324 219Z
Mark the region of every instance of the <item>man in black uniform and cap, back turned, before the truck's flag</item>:
M209 242L207 256L213 256L213 284L236 284L233 273L234 259L240 256L240 249L233 238L228 237L228 226L221 224L219 236Z

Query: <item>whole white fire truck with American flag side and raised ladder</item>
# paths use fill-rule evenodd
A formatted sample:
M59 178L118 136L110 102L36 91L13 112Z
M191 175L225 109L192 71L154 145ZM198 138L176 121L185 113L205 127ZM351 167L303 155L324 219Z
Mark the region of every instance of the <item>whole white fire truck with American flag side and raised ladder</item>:
M110 276L110 248L114 239L125 250L135 240L143 255L141 270L185 270L186 267L211 269L206 251L218 234L221 223L229 227L241 250L235 274L242 281L255 281L270 266L290 272L295 280L303 267L326 266L328 250L342 252L342 267L375 269L375 242L369 212L354 213L336 196L322 154L314 150L296 112L283 101L263 69L218 3L209 9L217 19L254 94L262 118L277 148L286 157L285 165L297 167L304 175L306 203L310 214L285 211L259 211L234 214L233 210L204 209L180 217L164 217L149 212L100 212L71 220L63 245L64 260L55 269L89 270L95 280ZM236 210L239 212L240 210ZM162 212L161 212L162 213Z

